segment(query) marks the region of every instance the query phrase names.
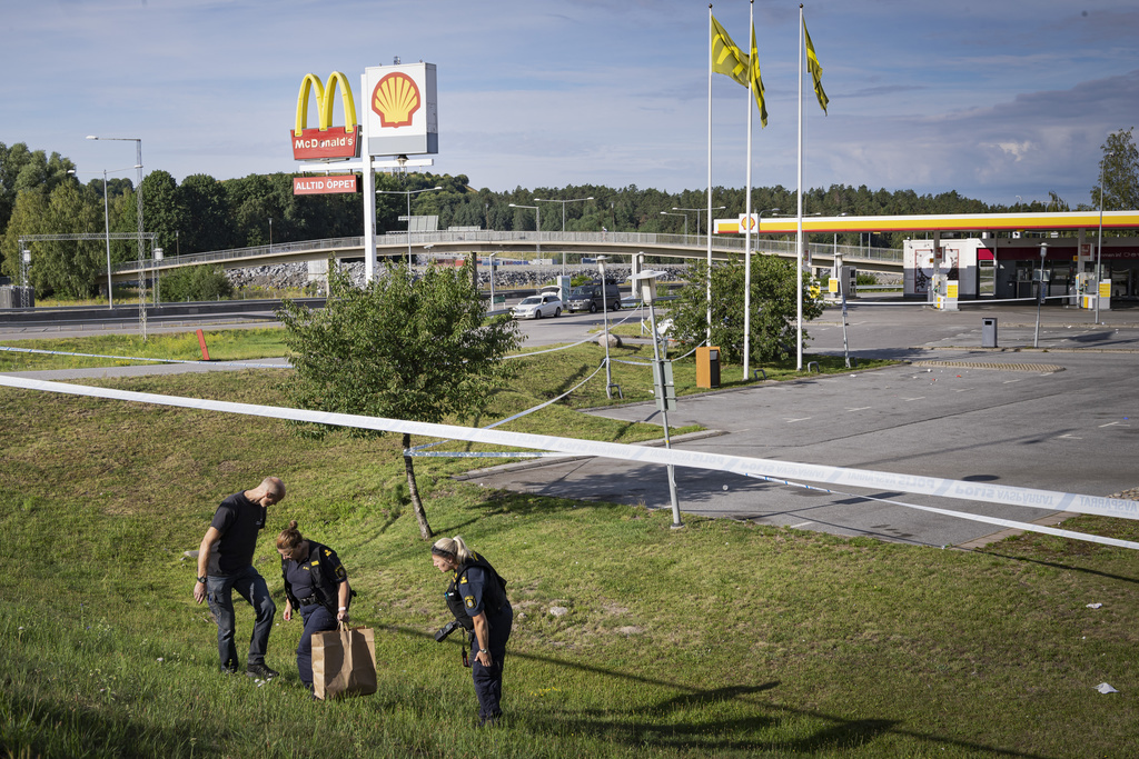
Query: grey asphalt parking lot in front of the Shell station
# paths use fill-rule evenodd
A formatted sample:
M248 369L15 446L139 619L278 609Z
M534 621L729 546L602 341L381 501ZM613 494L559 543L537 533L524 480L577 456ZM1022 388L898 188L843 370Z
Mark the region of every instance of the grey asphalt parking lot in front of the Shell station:
M998 320L1000 349L981 349L982 317ZM855 357L911 362L875 371L762 383L681 397L673 426L721 435L675 447L1112 495L1137 485L1139 311L1091 313L970 306L857 305L846 340ZM809 353L842 355L837 310L808 327ZM1040 349L1032 349L1036 340ZM654 404L593 413L655 421ZM669 508L665 472L652 465L587 459L486 470L486 487L550 496ZM767 525L867 535L924 545L962 545L999 528L929 514L887 498L1015 521L1056 521L1052 512L899 493L833 494L703 470L677 470L686 519L732 517Z

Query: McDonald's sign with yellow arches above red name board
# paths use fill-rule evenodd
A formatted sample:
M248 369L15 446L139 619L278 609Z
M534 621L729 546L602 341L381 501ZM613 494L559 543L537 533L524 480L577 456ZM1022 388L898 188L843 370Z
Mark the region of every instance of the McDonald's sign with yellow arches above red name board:
M341 90L344 106L344 126L333 126L333 94ZM309 93L317 96L318 126L309 129ZM328 85L316 74L305 74L296 99L296 126L289 132L293 158L296 160L328 160L360 157L360 125L357 123L355 101L349 79L341 72L328 75Z

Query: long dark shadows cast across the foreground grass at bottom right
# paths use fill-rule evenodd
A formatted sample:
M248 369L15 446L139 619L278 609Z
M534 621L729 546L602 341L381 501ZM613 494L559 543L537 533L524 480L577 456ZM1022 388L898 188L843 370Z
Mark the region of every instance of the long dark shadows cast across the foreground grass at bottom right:
M421 630L396 625L379 625L378 628L411 637L432 637ZM536 731L559 733L584 733L604 736L607 741L620 742L630 749L654 746L659 749L681 749L687 751L753 751L777 753L809 753L866 746L876 739L894 734L932 744L953 746L980 756L1018 757L1022 759L1043 759L1041 754L1026 753L997 746L981 745L968 741L919 733L899 727L892 719L846 719L836 715L822 713L810 709L796 709L775 702L761 702L752 696L775 691L779 680L760 685L729 685L719 688L702 690L671 683L669 680L596 667L577 661L568 661L554 657L533 653L510 652L511 659L525 659L554 667L564 667L590 673L614 679L641 683L657 687L678 691L679 694L659 703L632 709L606 708L584 709L575 712L551 709L547 713L530 711L525 723ZM739 703L754 709L754 713L738 719L707 719L683 721L686 710L694 707L706 707L726 703ZM670 721L673 715L680 716L678 721ZM784 719L780 715L795 715L828 723L812 734L794 740L764 741L759 737L748 739L748 733L770 731L780 727ZM648 721L653 719L654 721ZM517 723L516 723L517 724Z

